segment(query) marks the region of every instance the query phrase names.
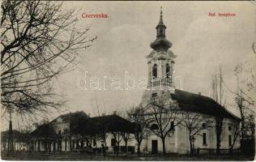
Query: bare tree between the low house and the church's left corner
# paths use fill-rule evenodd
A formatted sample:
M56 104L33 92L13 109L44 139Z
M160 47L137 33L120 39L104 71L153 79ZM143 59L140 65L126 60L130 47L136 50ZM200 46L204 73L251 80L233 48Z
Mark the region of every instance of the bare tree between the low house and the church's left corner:
M130 122L134 122L134 138L138 143L137 154L140 155L140 145L144 138L145 128L147 126L147 121L144 114L143 107L139 106L136 108L131 108L127 111Z

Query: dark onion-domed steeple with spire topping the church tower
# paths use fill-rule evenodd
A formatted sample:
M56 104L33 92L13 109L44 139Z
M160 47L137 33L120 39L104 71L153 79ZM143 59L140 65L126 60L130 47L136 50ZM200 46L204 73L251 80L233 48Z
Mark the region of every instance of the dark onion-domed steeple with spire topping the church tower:
M165 38L165 29L166 26L164 25L163 11L161 7L160 20L156 26L156 40L154 40L150 45L152 49L167 52L172 46L172 43Z

